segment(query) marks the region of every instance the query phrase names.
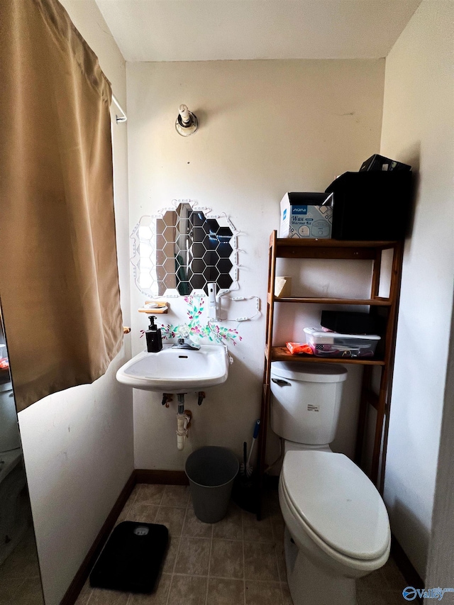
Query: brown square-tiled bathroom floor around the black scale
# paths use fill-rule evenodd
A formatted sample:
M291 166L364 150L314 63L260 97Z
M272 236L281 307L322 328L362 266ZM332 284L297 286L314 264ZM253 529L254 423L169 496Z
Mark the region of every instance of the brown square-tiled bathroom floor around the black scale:
M226 518L210 525L194 515L189 487L138 484L117 523L126 520L169 529L157 591L111 592L87 582L76 605L292 605L277 492L270 492L260 522L232 503ZM390 560L359 582L358 605L402 605L405 586Z

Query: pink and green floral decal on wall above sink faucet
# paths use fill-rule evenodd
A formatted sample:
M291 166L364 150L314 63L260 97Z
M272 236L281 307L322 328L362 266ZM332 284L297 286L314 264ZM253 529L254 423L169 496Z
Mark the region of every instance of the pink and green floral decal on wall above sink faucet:
M201 315L204 311L205 299L199 296L185 296L184 302L187 304L187 323L178 323L176 325L168 324L161 328L162 338L208 338L212 342L233 343L236 345L238 340L243 338L238 334L238 330L233 328L224 328L218 323L201 323ZM238 340L237 340L238 338Z

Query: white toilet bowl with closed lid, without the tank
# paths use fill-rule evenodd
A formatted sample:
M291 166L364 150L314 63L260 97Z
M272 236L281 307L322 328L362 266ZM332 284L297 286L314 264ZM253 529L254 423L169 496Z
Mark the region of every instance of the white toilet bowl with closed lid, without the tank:
M355 581L387 562L387 510L345 455L290 451L279 477L287 579L294 605L355 605Z

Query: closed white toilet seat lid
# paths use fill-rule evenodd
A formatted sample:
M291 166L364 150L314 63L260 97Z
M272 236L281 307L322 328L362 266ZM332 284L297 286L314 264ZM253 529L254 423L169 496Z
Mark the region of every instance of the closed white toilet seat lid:
M386 507L370 479L343 454L286 453L282 495L295 520L331 557L350 565L387 560Z

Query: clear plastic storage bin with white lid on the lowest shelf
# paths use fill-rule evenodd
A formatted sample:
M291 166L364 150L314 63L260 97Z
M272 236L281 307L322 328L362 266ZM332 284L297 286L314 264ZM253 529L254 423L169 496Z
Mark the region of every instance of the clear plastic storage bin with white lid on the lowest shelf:
M304 328L307 344L318 357L373 357L380 336L323 332Z

